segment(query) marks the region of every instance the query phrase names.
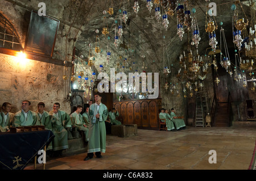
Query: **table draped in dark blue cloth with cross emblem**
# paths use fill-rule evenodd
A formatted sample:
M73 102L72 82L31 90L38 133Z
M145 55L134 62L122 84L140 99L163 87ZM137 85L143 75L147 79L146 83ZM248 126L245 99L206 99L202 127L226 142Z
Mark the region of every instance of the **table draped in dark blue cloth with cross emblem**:
M54 137L49 130L0 133L0 169L24 169L39 150L47 148Z

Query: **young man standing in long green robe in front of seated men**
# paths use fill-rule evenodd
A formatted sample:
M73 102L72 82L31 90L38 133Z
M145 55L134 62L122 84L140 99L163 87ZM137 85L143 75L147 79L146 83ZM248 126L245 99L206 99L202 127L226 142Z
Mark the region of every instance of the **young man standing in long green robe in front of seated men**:
M93 152L95 152L97 158L102 158L101 152L106 151L106 127L105 121L108 117L108 108L105 104L101 103L101 95L94 95L95 102L90 105L90 127L89 127L89 142L88 142L88 154L84 158L84 161L93 158Z

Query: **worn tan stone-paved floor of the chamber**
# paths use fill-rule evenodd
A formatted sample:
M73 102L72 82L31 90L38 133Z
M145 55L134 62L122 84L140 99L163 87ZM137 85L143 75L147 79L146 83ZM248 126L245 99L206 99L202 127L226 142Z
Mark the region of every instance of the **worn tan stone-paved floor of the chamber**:
M187 127L177 132L138 129L138 136L107 135L102 158L86 153L47 158L46 170L247 170L256 127ZM217 163L209 163L210 150ZM212 159L211 159L212 160ZM38 164L36 170L42 170ZM25 170L34 170L30 163Z

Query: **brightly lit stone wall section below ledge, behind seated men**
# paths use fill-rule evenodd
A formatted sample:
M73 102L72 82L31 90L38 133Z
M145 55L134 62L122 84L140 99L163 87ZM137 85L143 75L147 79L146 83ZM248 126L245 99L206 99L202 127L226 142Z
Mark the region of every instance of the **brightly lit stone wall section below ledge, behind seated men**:
M68 80L63 80L64 66L26 60L0 54L0 104L13 104L11 112L21 108L22 100L30 100L31 110L36 111L39 102L46 104L46 111L52 110L53 103L59 102L63 111L70 113ZM70 69L67 71L70 74Z

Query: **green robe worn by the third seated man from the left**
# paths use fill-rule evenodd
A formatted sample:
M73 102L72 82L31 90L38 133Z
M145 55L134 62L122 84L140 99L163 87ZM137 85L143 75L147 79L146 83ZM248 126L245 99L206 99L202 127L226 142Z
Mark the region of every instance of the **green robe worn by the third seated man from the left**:
M44 111L41 115L36 111L36 125L43 125L45 129L52 131L51 117L49 112ZM52 150L52 142L47 147L47 150Z

